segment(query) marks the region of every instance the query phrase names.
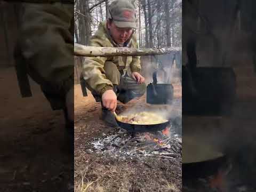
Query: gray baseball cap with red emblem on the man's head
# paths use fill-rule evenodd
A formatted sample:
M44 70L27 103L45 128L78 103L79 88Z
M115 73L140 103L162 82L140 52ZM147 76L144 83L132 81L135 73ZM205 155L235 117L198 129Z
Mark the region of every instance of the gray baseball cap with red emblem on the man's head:
M116 0L109 5L108 19L117 27L136 28L135 8L129 0Z

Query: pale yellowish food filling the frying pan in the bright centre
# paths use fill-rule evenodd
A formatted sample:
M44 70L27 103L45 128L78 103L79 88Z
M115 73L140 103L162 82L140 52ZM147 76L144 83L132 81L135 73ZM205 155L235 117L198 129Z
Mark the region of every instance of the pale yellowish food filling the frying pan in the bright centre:
M127 116L120 115L117 117L117 120L123 123L137 124L137 125L161 124L168 121L161 115L148 112L148 111L142 111L142 112L130 114Z

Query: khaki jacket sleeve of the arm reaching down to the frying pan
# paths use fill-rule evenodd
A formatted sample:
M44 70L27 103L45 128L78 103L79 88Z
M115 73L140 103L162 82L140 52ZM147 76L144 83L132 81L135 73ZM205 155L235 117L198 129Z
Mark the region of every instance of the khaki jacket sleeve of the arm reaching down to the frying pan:
M104 39L93 36L90 46L104 46ZM105 91L113 89L113 84L106 77L104 64L107 57L85 57L83 61L83 76L90 91L102 95Z

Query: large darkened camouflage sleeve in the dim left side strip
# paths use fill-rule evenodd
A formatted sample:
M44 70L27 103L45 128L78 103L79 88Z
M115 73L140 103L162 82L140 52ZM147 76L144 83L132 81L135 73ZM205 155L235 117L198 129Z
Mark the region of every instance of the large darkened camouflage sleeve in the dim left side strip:
M66 94L74 86L74 5L26 3L24 8L19 41L28 73L41 86Z

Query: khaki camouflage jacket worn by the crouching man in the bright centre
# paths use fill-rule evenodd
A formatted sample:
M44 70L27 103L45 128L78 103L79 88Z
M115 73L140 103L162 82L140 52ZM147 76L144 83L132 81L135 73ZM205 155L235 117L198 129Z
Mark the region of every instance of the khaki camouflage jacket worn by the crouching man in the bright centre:
M91 37L89 46L117 47L106 27L107 22L100 23L95 35ZM138 48L137 37L132 34L126 42L126 47ZM102 95L105 91L113 89L113 84L106 77L104 65L106 61L114 62L119 71L131 75L132 72L140 72L140 57L138 56L115 56L115 57L85 57L83 61L83 76L89 89Z

